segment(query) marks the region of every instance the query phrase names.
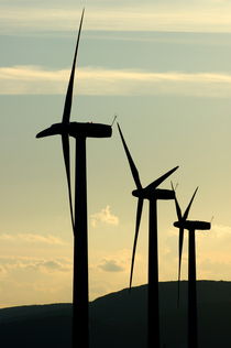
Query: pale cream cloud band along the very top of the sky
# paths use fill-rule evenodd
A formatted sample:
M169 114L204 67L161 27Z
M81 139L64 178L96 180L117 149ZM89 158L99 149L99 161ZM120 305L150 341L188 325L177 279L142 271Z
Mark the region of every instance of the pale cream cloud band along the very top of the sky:
M14 1L15 3L15 1ZM26 2L0 6L1 33L76 29L76 4ZM230 32L229 1L103 1L89 2L84 30ZM68 21L66 20L68 19Z

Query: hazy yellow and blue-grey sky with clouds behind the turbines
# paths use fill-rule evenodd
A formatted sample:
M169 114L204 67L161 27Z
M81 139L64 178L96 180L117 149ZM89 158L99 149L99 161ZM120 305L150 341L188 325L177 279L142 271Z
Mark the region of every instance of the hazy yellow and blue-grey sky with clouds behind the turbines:
M72 121L114 115L147 185L179 168L197 278L231 280L231 1L0 0L0 307L72 302L73 232L58 137L81 10ZM73 177L75 146L72 141ZM136 198L113 126L87 141L90 300L128 287ZM174 202L158 202L160 281L177 280ZM147 279L145 202L133 285ZM187 231L182 278L187 279Z

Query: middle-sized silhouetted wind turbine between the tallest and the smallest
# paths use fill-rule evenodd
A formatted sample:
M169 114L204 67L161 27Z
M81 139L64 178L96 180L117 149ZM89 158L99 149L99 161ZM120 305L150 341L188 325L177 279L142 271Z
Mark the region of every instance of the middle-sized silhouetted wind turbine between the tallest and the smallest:
M143 200L150 202L148 214L148 275L147 275L147 347L160 348L160 314L158 314L158 252L157 252L157 200L158 199L174 199L175 192L170 189L157 188L170 174L173 174L178 166L168 171L152 184L146 187L142 187L138 168L132 160L130 151L127 146L122 131L118 123L120 137L123 143L123 148L130 164L133 180L136 185L136 189L132 192L132 195L138 198L136 209L136 222L135 222L135 236L132 251L132 264L130 275L130 289L132 286L132 276L134 268L134 258L136 250L136 242L141 222L141 215L143 209Z

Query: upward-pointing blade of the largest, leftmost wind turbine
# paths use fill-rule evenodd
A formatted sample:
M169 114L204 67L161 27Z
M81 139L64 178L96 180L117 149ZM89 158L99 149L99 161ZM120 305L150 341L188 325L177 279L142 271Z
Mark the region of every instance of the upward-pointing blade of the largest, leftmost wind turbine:
M72 104L73 104L73 87L74 87L74 78L75 78L75 67L76 67L76 59L77 59L78 44L79 44L79 39L80 39L80 33L81 33L81 24L82 24L82 20L84 20L84 13L85 13L85 9L82 10L82 13L81 13L81 20L80 20L79 30L78 30L76 50L75 50L75 55L74 55L74 59L73 59L73 67L72 67L69 84L68 84L67 93L66 93L64 113L63 113L63 122L64 123L68 123L69 118L70 118L70 110L72 110Z

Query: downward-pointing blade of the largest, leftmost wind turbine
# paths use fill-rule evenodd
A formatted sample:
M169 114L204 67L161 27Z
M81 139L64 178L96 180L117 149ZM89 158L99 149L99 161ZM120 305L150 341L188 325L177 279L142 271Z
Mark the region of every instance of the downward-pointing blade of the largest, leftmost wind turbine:
M63 145L64 163L65 163L66 177L67 177L72 226L73 226L73 232L75 232L73 198L72 198L72 184L70 184L69 135L68 134L62 135L62 145Z

